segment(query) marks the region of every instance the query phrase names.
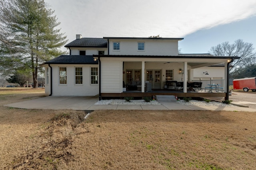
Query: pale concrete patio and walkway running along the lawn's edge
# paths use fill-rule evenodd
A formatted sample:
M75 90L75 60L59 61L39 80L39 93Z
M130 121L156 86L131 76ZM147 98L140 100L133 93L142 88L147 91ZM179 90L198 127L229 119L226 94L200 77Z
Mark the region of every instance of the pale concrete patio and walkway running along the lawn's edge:
M234 105L222 106L187 106L176 102L160 102L161 105L94 105L98 97L78 96L47 96L23 102L7 104L4 106L24 109L73 109L73 110L224 110L224 111L250 111L256 109L238 107Z

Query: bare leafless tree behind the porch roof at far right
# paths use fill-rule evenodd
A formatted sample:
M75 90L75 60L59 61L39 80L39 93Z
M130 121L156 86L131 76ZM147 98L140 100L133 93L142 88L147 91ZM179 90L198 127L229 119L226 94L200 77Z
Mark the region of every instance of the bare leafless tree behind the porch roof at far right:
M214 56L237 56L239 60L233 61L234 67L230 68L231 72L238 71L246 66L255 64L256 53L252 43L246 43L242 39L237 39L233 44L228 41L218 44L210 49Z

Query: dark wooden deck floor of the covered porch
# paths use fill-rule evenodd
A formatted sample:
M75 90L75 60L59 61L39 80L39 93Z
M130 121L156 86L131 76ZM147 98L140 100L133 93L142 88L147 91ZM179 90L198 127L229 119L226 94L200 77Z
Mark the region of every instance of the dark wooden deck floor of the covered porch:
M224 92L188 91L183 93L179 90L152 90L151 92L126 91L122 93L102 93L101 97L122 98L122 97L152 97L156 95L173 95L177 97L225 97Z

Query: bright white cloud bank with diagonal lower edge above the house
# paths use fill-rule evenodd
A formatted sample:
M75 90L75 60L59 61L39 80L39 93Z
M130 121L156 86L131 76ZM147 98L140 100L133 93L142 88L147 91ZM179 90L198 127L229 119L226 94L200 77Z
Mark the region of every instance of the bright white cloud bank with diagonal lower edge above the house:
M83 37L184 37L256 15L255 0L45 0L69 42Z

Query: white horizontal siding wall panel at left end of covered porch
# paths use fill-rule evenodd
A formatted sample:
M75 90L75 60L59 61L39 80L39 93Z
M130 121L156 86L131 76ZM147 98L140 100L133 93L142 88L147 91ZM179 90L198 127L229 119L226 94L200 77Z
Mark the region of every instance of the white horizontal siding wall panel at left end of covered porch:
M101 61L102 62L102 61ZM122 92L122 62L104 61L101 63L101 92Z

